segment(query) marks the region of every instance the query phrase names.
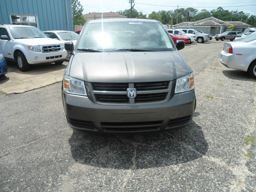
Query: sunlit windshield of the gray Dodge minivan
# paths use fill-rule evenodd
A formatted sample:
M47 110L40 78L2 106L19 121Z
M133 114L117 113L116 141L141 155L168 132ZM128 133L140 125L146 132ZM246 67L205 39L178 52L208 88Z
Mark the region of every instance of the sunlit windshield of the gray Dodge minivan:
M176 50L158 22L92 22L84 27L78 51L170 51Z

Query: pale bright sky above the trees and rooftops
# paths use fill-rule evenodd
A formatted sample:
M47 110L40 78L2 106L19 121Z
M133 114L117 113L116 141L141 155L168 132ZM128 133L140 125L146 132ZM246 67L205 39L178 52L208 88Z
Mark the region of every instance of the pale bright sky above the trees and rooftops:
M80 3L84 8L83 14L89 12L117 12L119 10L124 11L130 9L129 0L80 0ZM142 11L143 14L147 16L153 11L174 10L177 8L177 5L182 8L193 7L199 11L202 9L213 10L220 6L224 8L224 10L238 10L256 15L256 0L134 0L133 4L135 4L134 8L138 10L138 12Z

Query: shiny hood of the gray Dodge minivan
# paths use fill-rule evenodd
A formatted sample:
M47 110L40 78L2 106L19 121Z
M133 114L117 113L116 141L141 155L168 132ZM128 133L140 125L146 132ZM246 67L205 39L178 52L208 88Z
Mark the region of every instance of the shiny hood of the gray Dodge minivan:
M86 82L170 81L188 74L178 51L75 53L70 76Z

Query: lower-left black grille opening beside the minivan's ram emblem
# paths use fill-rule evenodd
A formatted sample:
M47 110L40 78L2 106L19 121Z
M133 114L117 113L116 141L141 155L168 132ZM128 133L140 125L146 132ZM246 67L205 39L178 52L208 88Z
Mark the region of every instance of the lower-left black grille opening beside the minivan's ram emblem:
M99 102L111 102L111 103L128 102L128 97L126 95L95 94L95 97Z

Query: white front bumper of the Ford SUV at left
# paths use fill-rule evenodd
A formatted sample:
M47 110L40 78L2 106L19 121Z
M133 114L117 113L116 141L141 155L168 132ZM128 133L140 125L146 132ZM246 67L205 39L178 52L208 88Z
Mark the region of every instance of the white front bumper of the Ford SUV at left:
M66 59L67 51L56 51L56 52L35 52L29 50L26 54L26 59L29 64L39 63L52 63Z

